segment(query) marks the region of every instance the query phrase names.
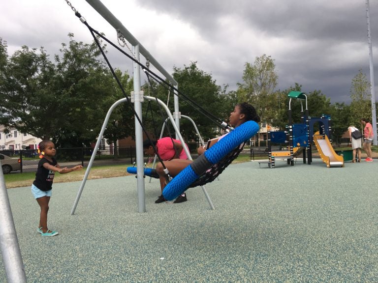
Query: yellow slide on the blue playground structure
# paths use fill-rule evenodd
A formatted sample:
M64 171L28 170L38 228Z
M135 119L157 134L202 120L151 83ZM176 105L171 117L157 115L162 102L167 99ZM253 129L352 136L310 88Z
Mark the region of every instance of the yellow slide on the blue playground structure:
M344 167L343 156L338 155L329 142L327 135L314 135L314 142L321 160L330 167Z

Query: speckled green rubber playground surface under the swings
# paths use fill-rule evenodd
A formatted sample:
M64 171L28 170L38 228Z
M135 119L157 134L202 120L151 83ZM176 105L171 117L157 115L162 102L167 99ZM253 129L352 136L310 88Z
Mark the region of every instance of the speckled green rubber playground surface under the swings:
M9 189L29 283L378 282L378 160L326 168L319 159L276 168L230 165L188 201L155 204L146 178L138 213L134 176L53 186L48 224L29 187ZM0 282L6 282L0 268Z

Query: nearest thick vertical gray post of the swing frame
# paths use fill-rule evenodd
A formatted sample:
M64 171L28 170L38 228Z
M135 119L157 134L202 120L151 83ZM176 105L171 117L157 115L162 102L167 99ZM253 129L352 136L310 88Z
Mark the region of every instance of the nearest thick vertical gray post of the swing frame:
M132 47L132 52L139 61L139 45ZM142 120L143 97L140 92L140 66L133 62L133 83L134 83L134 109L135 113ZM135 117L135 144L136 144L136 179L138 188L138 212L146 212L146 197L144 192L144 152L143 152L143 131L142 126Z

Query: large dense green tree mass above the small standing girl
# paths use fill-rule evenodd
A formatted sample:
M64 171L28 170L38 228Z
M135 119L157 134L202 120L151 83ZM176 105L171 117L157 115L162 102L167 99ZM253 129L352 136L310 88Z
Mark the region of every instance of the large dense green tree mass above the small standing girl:
M55 64L43 48L23 46L1 71L0 123L60 147L94 141L105 113L121 97L96 44L68 36Z

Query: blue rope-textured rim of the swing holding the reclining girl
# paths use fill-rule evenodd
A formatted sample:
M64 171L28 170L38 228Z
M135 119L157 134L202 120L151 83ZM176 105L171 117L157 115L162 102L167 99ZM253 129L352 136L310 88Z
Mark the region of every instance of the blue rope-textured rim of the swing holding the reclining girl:
M201 174L220 162L222 158L242 142L249 140L258 132L258 129L259 126L254 121L247 121L236 127L174 177L163 190L164 198L173 200L183 194Z

